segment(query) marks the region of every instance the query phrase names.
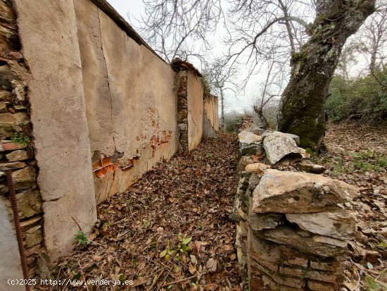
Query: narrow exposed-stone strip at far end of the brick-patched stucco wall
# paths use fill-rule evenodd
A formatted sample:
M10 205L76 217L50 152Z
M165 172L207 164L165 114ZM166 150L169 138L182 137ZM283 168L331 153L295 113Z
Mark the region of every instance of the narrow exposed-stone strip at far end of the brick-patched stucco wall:
M186 70L178 73L179 89L177 91L177 111L179 113L179 144L182 151L188 152L188 75Z

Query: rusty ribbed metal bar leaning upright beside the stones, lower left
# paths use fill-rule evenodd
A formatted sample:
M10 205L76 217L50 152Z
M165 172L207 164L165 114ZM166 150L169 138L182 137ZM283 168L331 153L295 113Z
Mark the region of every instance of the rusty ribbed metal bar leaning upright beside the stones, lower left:
M23 277L25 280L27 280L27 282L26 282L27 284L25 284L25 291L31 291L31 286L28 285L29 278L28 278L27 257L25 256L23 232L22 232L22 228L20 226L18 201L16 200L15 186L13 185L13 178L12 178L12 171L7 170L6 174L7 174L9 198L11 199L11 207L12 207L12 212L13 212L13 221L15 223L16 238L18 240L18 246L19 246L20 261L22 263Z

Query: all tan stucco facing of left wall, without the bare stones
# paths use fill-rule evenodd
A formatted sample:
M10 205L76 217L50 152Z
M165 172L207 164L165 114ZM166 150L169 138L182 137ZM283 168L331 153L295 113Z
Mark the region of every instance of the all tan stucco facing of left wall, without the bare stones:
M44 247L56 261L74 247L80 228L94 226L98 202L178 150L177 73L93 1L14 3L32 76L37 167L28 173L42 194ZM197 74L188 71L190 149L203 134Z

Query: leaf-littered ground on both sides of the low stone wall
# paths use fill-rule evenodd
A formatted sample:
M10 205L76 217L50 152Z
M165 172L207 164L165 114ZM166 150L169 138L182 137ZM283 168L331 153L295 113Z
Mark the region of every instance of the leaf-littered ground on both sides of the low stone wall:
M387 290L387 128L331 124L326 144L329 152L312 156L326 166L324 175L360 188L353 204L345 205L359 230L350 243L346 290ZM131 287L89 290L243 290L235 225L228 219L236 149L236 135L206 140L103 202L92 242L63 259L58 278L134 281Z

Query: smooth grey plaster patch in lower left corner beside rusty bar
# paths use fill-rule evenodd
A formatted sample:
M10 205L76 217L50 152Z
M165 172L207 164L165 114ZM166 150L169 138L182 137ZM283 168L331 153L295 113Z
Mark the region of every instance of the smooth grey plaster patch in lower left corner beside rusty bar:
M10 217L3 197L0 197L0 290L22 291L23 285L8 285L8 279L23 279L18 242L11 226ZM6 289L1 289L2 287Z

